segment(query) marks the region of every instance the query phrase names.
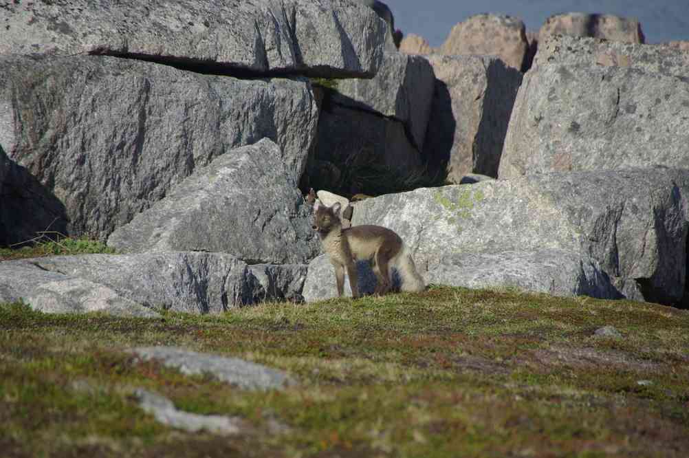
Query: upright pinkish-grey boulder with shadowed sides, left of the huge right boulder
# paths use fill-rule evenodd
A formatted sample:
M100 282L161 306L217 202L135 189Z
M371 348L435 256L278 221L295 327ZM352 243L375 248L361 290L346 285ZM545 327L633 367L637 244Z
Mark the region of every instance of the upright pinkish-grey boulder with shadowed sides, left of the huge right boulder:
M495 57L426 56L435 90L424 156L460 183L466 174L496 177L522 74Z

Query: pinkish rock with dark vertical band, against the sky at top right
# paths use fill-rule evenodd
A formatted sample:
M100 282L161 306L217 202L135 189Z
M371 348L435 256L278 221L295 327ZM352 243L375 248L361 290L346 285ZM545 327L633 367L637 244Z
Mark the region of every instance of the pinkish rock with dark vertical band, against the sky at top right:
M574 37L595 37L624 43L644 43L641 23L634 17L614 14L567 12L548 17L539 32L539 41L562 34Z

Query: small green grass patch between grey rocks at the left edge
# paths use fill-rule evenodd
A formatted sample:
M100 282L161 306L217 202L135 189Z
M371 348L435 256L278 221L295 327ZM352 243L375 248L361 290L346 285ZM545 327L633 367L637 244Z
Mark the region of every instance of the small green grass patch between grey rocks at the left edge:
M101 242L85 237L60 237L57 240L41 237L30 245L17 248L0 248L0 261L92 253L113 254L115 250Z

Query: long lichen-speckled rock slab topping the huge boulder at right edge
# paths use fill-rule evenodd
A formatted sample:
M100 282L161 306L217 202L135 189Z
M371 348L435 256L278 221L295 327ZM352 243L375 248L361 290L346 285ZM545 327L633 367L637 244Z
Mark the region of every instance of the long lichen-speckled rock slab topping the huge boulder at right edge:
M689 53L664 45L554 35L539 43L534 62L535 65L630 67L683 77L689 68Z

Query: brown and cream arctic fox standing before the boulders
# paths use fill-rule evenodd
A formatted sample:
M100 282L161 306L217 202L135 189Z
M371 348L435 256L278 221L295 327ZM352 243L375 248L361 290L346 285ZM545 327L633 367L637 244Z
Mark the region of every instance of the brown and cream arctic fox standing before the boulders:
M318 231L324 251L329 255L330 262L335 268L338 295L341 296L344 293L345 269L347 269L352 295L354 298L359 297L356 262L360 260L371 262L373 273L378 279L376 294L387 293L392 287L391 262L398 260L403 254L402 239L394 231L382 226L362 225L342 229L339 211L340 204L338 203L332 207L318 205L313 225L313 229ZM406 282L408 280L404 277L412 275L415 286L406 290L420 291L418 284L421 284L422 289L423 280L416 273L413 260L410 258L409 261L411 261L411 274L408 273L410 269L407 266L402 280Z

